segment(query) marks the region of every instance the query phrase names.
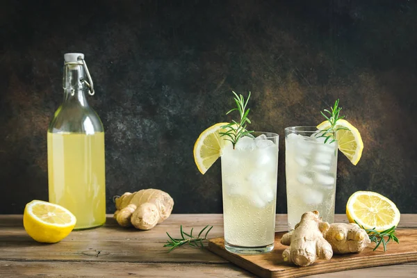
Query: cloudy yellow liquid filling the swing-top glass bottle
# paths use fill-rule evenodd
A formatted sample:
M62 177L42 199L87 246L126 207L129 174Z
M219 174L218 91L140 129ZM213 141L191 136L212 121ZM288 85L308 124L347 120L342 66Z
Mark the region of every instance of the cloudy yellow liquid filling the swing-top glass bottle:
M70 210L75 229L106 222L104 132L48 132L49 202Z

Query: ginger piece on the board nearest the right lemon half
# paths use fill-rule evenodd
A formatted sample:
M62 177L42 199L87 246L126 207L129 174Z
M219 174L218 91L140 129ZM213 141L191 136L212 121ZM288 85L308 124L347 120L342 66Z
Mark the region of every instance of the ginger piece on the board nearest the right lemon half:
M325 234L325 239L335 254L359 253L370 244L368 234L355 223L334 223Z

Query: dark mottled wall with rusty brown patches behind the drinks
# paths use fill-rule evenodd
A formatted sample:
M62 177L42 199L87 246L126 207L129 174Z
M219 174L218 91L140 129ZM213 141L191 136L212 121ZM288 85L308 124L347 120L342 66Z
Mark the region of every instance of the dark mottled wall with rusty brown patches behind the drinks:
M220 161L203 176L199 133L252 92L252 128L284 128L341 106L363 136L339 155L336 212L356 190L417 213L416 1L1 1L0 213L47 199L47 125L63 99L63 54L85 54L106 130L111 197L161 188L176 213L220 213Z

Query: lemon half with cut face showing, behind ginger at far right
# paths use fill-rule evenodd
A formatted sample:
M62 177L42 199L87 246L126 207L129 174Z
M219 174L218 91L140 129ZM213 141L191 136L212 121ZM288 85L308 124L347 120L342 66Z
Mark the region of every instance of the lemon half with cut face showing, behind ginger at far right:
M378 193L357 191L349 197L346 204L346 215L349 222L357 220L365 229L384 231L400 222L400 211L397 206Z

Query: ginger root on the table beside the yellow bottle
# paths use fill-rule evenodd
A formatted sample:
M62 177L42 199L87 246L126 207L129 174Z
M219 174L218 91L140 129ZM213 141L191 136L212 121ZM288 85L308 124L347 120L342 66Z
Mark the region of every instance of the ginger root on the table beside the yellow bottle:
M149 188L126 192L115 199L115 204L114 218L120 226L149 230L170 216L174 200L162 190Z

